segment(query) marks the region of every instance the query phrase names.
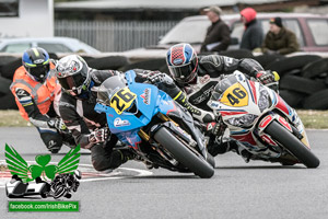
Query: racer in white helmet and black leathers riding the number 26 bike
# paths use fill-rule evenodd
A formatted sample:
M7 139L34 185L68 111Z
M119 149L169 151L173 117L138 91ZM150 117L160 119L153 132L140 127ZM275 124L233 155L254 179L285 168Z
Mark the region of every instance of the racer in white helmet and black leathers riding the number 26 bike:
M106 127L106 115L94 111L97 87L119 73L115 70L92 69L78 55L66 56L56 65L56 76L63 91L59 112L77 145L91 150L92 164L96 171L116 169L134 158L128 149L115 150L118 139Z

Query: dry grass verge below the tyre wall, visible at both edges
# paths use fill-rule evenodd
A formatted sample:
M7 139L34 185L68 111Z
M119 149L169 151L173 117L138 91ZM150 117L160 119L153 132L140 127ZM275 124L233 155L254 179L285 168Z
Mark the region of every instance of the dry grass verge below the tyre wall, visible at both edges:
M328 111L297 111L305 128L328 129ZM0 127L27 127L19 111L0 111Z

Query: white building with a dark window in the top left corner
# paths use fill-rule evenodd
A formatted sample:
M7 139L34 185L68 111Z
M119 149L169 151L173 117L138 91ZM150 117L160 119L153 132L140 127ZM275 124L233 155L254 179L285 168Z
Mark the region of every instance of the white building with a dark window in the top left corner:
M54 36L54 0L1 0L0 37Z

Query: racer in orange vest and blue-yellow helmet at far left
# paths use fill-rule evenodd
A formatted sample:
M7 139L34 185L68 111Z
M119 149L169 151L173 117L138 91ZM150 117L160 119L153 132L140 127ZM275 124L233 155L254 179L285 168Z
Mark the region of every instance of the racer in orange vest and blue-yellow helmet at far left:
M24 51L22 62L10 87L21 116L37 128L51 153L57 153L62 143L74 147L74 139L56 112L61 92L55 60L45 49L35 47Z

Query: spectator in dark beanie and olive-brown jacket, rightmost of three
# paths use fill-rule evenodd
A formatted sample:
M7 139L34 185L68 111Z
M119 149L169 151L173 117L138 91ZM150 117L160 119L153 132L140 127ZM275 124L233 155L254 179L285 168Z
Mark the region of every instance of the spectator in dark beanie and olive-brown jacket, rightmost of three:
M281 18L270 19L270 31L262 44L265 54L291 54L297 51L300 45L295 34L282 25Z

